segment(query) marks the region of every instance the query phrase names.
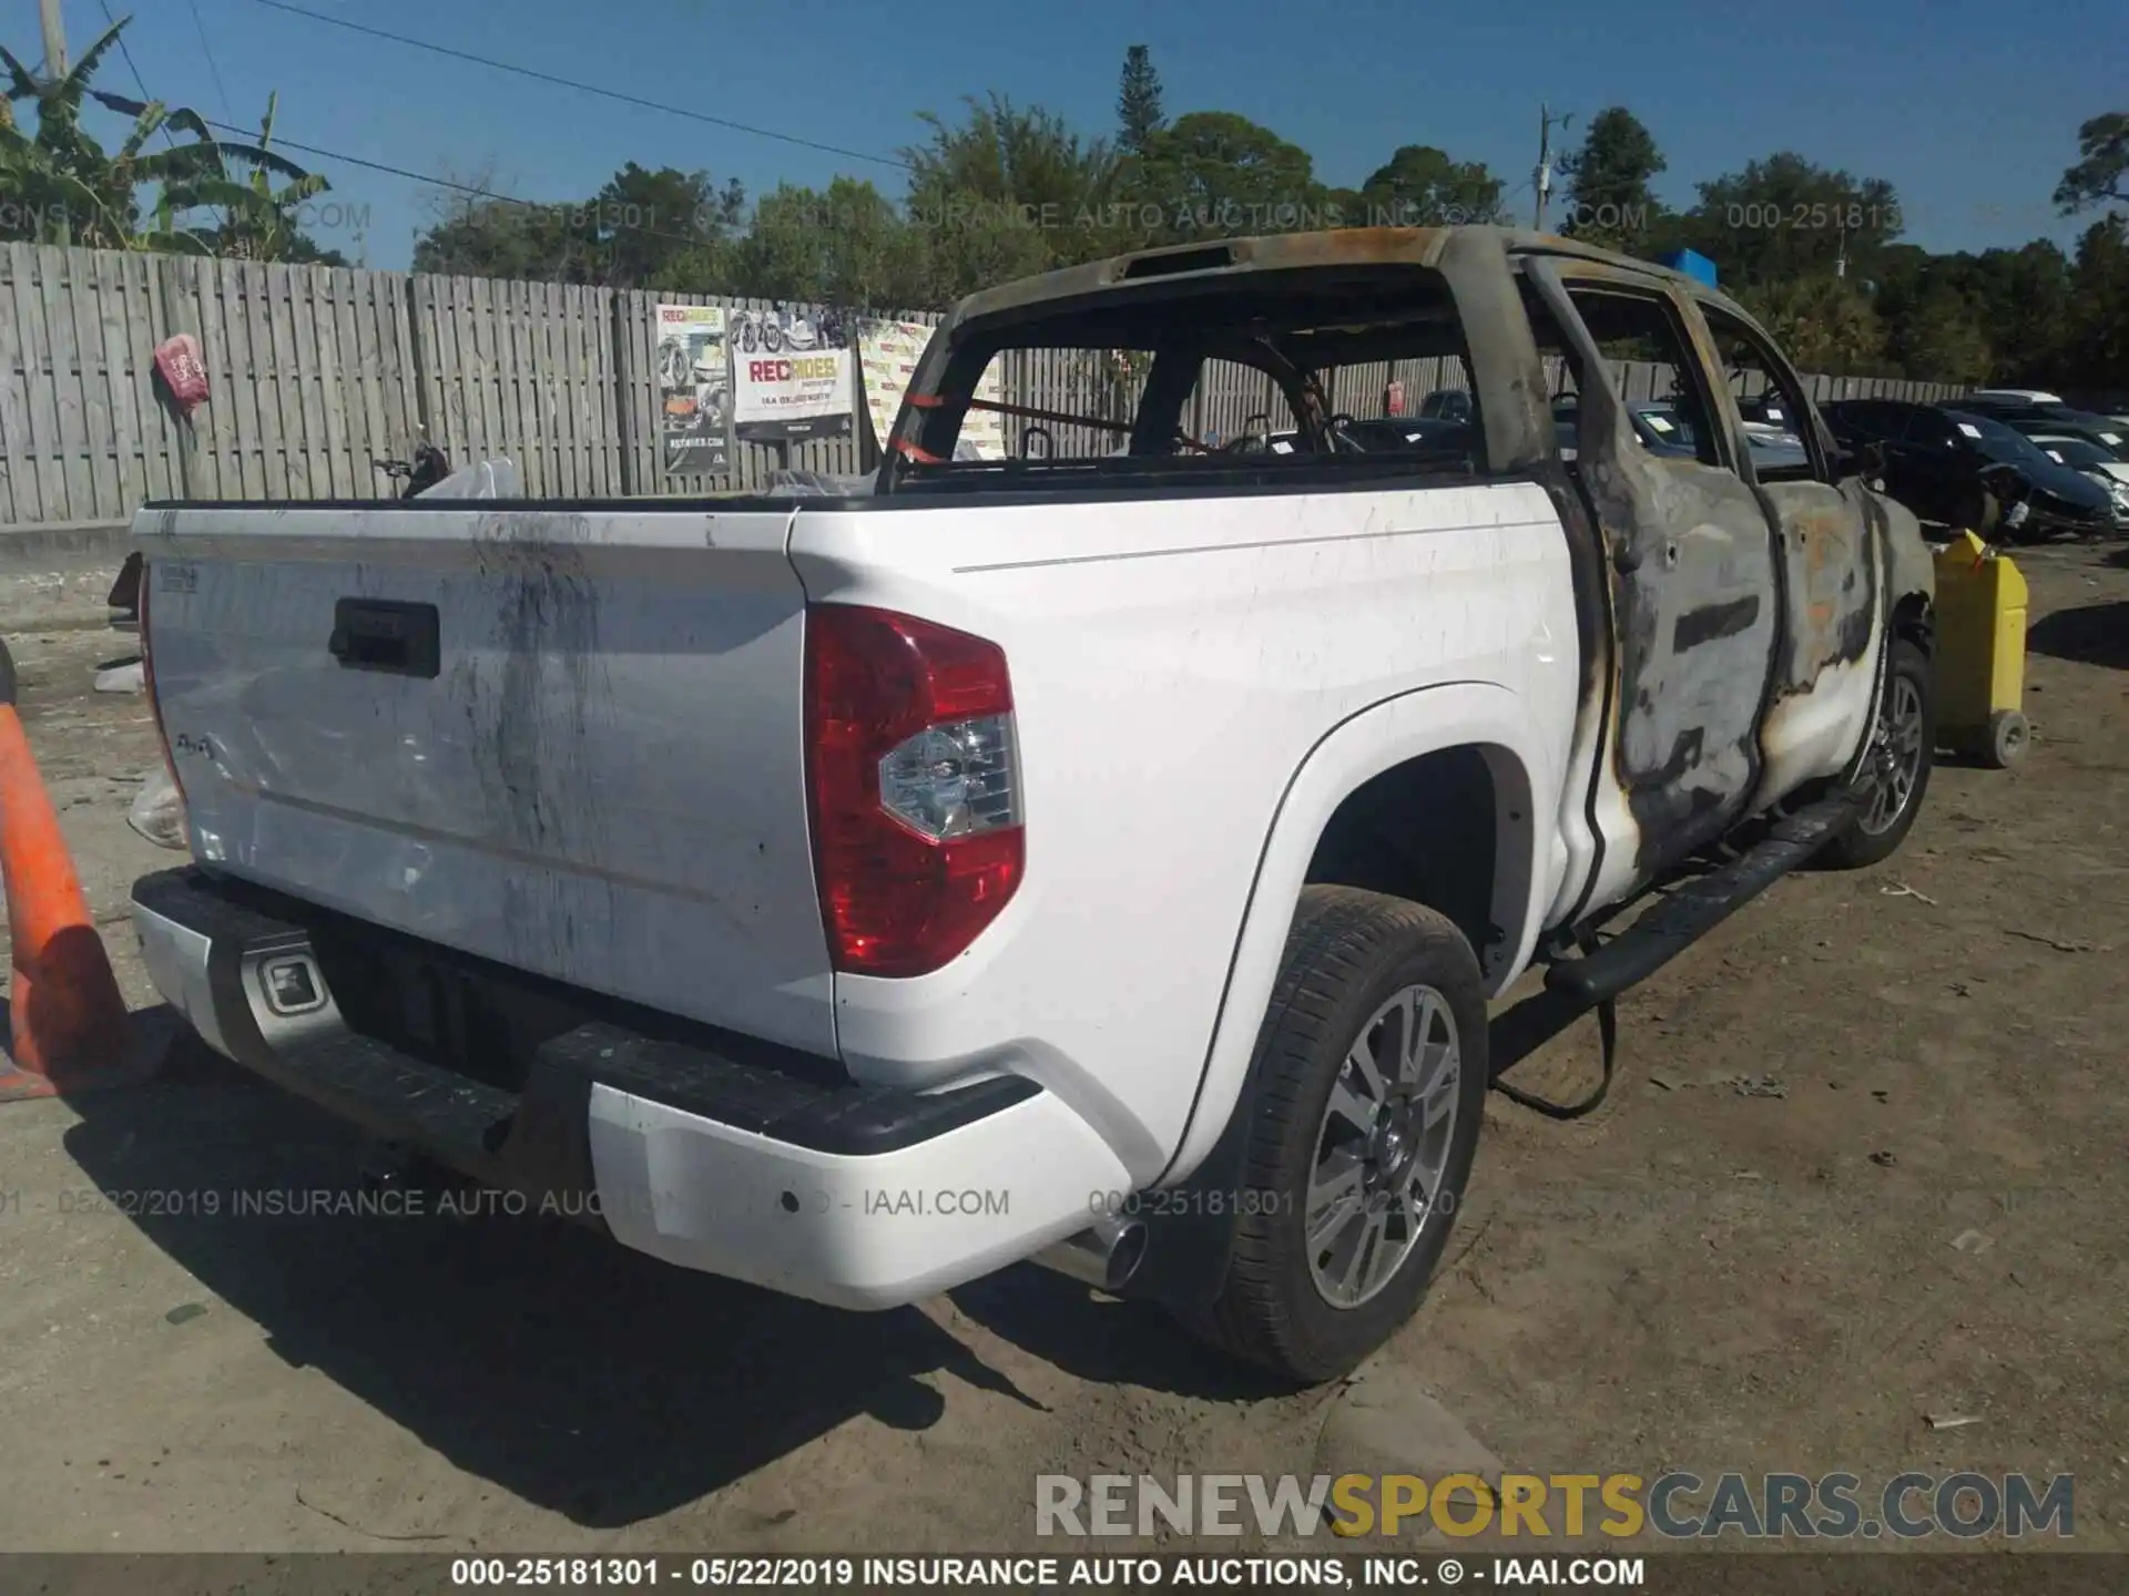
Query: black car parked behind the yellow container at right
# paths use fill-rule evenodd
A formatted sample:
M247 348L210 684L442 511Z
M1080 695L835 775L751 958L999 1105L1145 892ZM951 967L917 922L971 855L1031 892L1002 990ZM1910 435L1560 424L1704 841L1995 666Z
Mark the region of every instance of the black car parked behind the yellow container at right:
M1910 400L1835 400L1822 406L1827 426L1846 447L1876 443L1884 451L1884 487L1925 521L1980 528L1988 498L2003 498L1993 479L2008 479L2027 504L2010 528L2020 543L2091 536L2114 526L2108 489L2048 460L2029 438L1978 411Z

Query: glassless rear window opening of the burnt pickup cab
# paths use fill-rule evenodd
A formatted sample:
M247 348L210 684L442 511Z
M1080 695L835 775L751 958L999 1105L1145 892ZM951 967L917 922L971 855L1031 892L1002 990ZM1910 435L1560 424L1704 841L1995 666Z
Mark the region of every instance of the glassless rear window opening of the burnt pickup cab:
M975 415L1003 460L956 447ZM890 451L888 492L1471 477L1486 453L1454 300L1416 266L1109 289L973 321Z

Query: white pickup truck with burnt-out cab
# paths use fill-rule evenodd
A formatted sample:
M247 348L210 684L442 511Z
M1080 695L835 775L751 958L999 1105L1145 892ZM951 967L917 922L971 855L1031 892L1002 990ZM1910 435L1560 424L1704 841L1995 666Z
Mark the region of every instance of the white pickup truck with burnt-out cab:
M1141 381L956 458L1024 351ZM1407 358L1460 419L1380 415ZM1207 362L1290 413L1188 436ZM1539 234L979 294L862 494L136 532L194 862L134 915L207 1043L686 1268L886 1309L1041 1258L1301 1381L1426 1287L1490 1000L1605 1004L1929 777L1912 517L1733 302Z

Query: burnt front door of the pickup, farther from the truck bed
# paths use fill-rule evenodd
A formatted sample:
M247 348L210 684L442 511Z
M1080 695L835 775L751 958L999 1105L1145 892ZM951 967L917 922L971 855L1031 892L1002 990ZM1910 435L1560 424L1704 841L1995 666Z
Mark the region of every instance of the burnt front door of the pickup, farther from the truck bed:
M1837 775L1869 730L1884 634L1884 513L1859 479L1835 481L1831 438L1773 343L1720 304L1688 300L1686 309L1695 340L1705 338L1701 353L1729 379L1716 396L1729 453L1773 521L1782 560L1780 647L1750 804L1759 811L1814 777ZM1801 458L1752 445L1737 387L1780 396Z

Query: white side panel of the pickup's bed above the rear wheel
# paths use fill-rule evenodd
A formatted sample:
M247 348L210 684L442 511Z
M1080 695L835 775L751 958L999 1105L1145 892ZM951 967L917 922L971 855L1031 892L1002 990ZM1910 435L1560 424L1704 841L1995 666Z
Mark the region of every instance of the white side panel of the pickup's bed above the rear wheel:
M813 600L996 641L1020 721L1026 881L945 970L837 981L845 1064L1033 1075L1135 1179L1190 1121L1282 798L1335 728L1497 683L1526 704L1552 834L1580 660L1535 483L805 509L792 564ZM1409 843L1439 847L1426 815Z

